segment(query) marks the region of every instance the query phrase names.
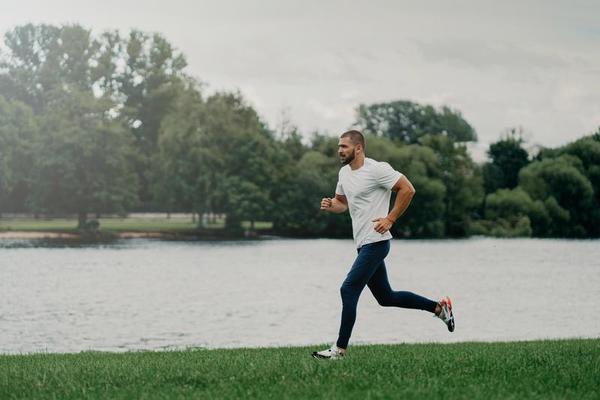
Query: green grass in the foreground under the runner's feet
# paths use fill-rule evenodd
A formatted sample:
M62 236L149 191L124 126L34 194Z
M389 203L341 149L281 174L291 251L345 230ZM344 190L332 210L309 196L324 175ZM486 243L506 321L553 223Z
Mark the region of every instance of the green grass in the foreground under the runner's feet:
M317 346L320 347L320 346ZM315 347L315 348L317 348ZM597 399L600 339L0 356L0 398Z

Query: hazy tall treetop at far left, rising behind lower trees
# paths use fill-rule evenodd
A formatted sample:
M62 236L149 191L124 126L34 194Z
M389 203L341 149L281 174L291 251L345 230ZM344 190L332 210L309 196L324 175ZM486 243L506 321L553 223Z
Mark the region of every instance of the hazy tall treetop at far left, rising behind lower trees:
M0 92L42 113L57 90L70 87L92 94L110 87L113 48L80 25L18 26L5 34L0 59ZM104 93L108 96L111 93Z

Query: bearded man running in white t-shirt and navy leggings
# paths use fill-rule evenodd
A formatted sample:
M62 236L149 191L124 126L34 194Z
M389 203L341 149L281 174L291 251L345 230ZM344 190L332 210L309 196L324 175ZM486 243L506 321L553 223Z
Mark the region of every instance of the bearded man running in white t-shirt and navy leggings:
M358 255L340 288L342 321L337 342L329 349L315 351L313 357L340 359L346 355L358 298L365 286L380 305L429 311L453 332L454 315L449 297L436 302L415 293L393 291L388 282L384 259L390 250L389 230L410 204L415 188L388 163L365 157L365 138L359 131L348 131L340 136L338 153L344 166L339 172L335 198L321 200L321 210L333 213L350 210ZM397 195L389 211L392 191Z

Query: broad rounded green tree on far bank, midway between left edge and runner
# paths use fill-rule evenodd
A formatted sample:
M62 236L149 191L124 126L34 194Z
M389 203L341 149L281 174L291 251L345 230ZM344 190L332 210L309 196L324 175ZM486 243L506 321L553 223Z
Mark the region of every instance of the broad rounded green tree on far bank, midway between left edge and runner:
M242 220L253 224L270 215L277 146L256 111L239 93L203 101L194 87L177 104L159 139L162 201L225 213L235 231Z

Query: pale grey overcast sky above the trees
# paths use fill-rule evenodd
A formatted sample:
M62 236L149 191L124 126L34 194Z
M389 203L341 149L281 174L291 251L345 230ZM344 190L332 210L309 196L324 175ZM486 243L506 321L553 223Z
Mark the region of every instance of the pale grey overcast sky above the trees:
M276 127L340 133L360 103L460 110L476 158L507 127L557 146L600 126L600 1L0 2L27 22L160 32L208 89L239 89ZM479 156L478 156L479 154Z

